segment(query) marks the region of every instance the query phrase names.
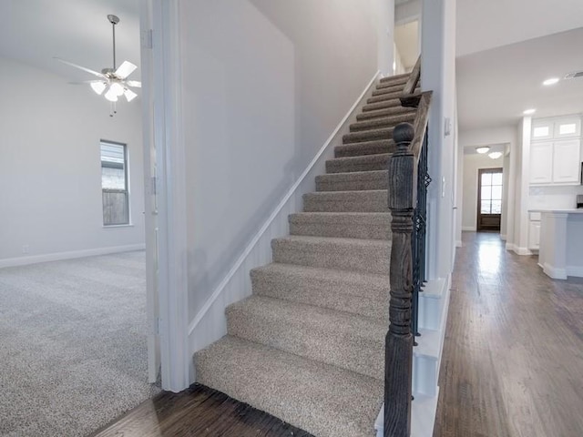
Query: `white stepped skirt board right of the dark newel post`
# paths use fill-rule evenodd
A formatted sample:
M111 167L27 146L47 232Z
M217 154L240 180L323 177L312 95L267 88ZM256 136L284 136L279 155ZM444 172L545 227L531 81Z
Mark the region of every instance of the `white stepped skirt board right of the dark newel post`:
M418 343L413 351L413 393L414 401L411 410L411 436L433 437L435 412L437 411L437 398L439 397L439 369L444 351L445 326L449 310L449 298L451 290L448 287L449 280L440 278L427 282L424 287L426 297L422 299L435 300L430 302L439 308L437 329L420 329L421 337L416 337ZM423 293L422 293L423 294ZM419 301L421 302L422 299ZM434 320L431 319L430 322ZM420 324L424 315L420 311ZM423 319L424 322L428 320ZM384 407L374 422L377 437L382 437L384 432Z

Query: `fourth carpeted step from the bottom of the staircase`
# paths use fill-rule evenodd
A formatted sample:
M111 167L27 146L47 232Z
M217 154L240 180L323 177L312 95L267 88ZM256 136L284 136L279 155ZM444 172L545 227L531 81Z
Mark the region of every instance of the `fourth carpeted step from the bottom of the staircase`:
M391 241L291 235L272 239L271 250L274 262L386 275Z

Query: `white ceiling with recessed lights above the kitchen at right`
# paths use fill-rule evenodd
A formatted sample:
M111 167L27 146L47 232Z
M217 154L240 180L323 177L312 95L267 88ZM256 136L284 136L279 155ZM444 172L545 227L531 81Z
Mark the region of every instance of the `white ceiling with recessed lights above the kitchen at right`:
M514 125L531 107L533 117L583 112L583 78L542 85L583 70L581 46L583 27L458 57L460 130Z

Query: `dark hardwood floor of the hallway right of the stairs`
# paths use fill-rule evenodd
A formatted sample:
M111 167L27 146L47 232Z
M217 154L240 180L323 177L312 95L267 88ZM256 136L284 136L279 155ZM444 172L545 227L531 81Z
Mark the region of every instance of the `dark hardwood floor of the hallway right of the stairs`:
M496 234L457 250L434 437L583 436L583 280Z

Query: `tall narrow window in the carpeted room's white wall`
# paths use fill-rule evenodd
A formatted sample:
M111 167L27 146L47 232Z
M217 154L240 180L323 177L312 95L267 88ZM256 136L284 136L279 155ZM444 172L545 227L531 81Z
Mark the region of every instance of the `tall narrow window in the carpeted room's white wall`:
M101 190L104 226L128 225L128 150L125 144L101 141Z

